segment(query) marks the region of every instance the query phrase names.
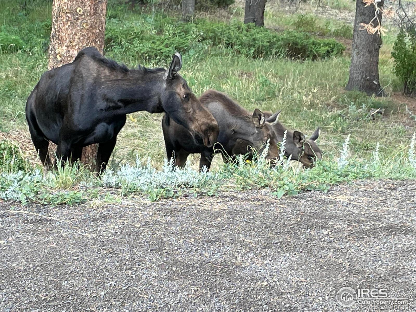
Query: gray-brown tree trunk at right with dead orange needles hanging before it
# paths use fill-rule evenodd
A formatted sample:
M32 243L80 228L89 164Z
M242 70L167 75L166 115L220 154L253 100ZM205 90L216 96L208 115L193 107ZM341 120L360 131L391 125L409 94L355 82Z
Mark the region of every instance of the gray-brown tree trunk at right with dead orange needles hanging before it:
M383 7L384 0L378 3ZM383 95L379 82L379 50L381 38L379 35L370 35L366 30L360 30L361 23L368 24L375 15L373 5L364 7L362 0L357 0L357 9L354 20L354 36L352 40L351 66L349 67L349 80L347 90L359 90L368 95ZM381 13L378 17L381 23ZM377 20L372 22L375 27Z

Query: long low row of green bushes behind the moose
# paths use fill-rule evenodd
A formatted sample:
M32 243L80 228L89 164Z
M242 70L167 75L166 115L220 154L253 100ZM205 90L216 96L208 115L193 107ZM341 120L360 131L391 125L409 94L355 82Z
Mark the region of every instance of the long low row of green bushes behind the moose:
M175 52L199 53L225 49L249 58L290 57L319 59L342 54L345 47L333 39L318 39L303 32L283 32L242 22L196 20L182 23L173 18L144 17L126 25L110 20L106 49L129 51L145 61L166 61Z

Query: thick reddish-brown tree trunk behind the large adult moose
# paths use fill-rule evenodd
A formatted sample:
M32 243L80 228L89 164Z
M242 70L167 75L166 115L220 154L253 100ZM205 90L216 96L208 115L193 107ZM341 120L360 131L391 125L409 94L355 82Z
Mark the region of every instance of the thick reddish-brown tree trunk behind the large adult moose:
M103 53L106 7L107 0L53 0L49 69L72 62L84 47L96 47ZM53 148L56 150L55 145ZM97 149L94 144L82 151L82 163L92 170Z

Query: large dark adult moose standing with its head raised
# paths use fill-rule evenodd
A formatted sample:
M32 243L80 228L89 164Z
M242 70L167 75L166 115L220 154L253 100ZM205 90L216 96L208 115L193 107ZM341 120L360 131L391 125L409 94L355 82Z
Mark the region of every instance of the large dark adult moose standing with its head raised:
M52 165L49 141L57 144L56 156L64 162L79 159L84 146L99 143L96 171L104 171L126 114L135 111L164 111L205 146L213 146L218 124L178 74L181 67L177 53L167 70L129 70L89 47L72 63L45 72L26 103L30 135L42 163Z

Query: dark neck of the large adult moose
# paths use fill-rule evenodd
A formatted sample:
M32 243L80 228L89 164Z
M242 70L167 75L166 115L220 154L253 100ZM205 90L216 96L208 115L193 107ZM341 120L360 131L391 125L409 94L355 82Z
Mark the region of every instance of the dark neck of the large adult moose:
M163 112L161 92L164 88L163 73L146 73L130 70L124 77L106 82L105 111L125 115L135 111Z

